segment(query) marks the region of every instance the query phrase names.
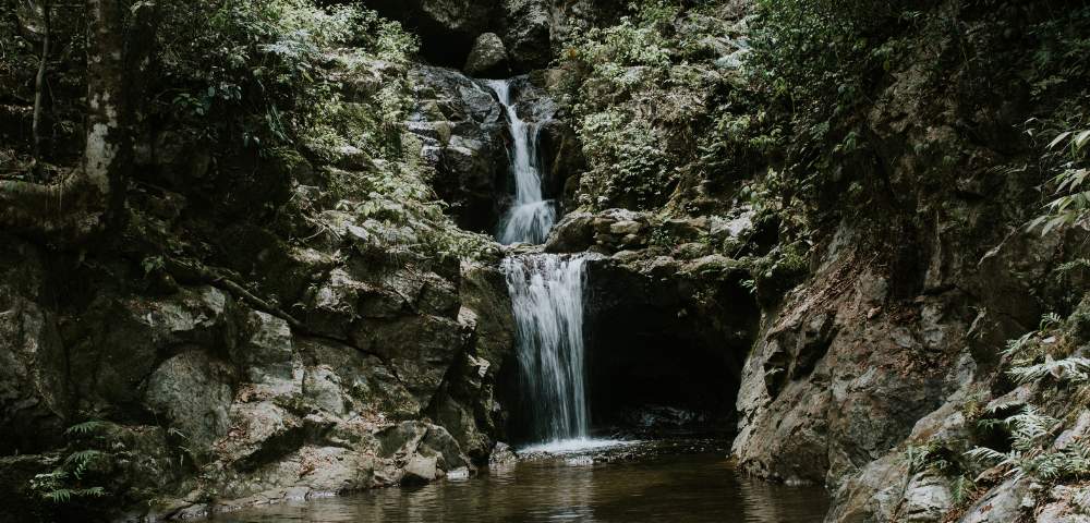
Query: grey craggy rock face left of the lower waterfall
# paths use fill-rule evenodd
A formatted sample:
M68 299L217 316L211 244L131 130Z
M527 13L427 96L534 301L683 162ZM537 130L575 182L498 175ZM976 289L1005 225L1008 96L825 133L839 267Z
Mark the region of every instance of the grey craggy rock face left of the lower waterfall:
M33 252L21 256L21 270L37 270ZM14 313L0 316L3 386L19 388L3 389L0 428L36 437L3 445L32 453L59 440L73 401L85 412L145 410L184 441L153 450L178 449L204 478L160 515L433 481L487 462L502 427L492 384L513 341L502 277L467 267L460 289L457 264L362 267L330 271L304 304L322 338L211 287L153 299L104 289L89 302L104 308L83 313L100 330L66 355L36 294L48 282L4 279L0 304ZM99 323L104 313L114 320ZM338 317L347 323L334 328ZM78 400L57 396L69 388Z

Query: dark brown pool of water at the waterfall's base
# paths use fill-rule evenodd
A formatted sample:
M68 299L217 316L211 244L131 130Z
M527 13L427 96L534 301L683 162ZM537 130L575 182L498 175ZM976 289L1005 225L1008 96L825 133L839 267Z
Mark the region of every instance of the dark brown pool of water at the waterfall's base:
M820 523L822 488L746 477L722 445L633 443L535 452L476 477L262 507L243 522Z

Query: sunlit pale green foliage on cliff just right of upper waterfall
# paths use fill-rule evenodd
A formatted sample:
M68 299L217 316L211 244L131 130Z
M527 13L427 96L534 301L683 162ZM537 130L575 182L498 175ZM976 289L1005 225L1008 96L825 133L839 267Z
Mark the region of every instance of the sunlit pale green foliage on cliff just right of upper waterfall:
M567 92L555 94L573 101L590 167L581 206L655 209L675 195L687 171L701 170L695 163L707 141L707 96L722 78L711 60L689 58L692 42L724 36L723 24L705 21L686 34L676 29L680 17L700 11L682 11L678 2L640 2L617 25L573 40L565 65L580 75L561 87Z

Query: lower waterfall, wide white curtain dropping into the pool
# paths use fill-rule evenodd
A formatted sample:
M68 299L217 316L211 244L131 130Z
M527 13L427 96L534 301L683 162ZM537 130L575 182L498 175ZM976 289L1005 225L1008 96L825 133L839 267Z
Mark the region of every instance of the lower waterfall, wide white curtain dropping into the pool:
M550 254L504 260L514 305L524 404L541 441L588 435L583 368L584 259Z

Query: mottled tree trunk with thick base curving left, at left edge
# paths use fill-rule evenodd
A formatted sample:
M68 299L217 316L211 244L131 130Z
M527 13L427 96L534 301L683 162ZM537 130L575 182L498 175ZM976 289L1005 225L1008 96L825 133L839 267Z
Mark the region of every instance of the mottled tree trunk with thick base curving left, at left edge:
M87 142L82 168L52 185L0 181L0 230L78 240L101 230L109 212L123 203L119 198L132 151L125 125L131 101L124 3L86 0Z

